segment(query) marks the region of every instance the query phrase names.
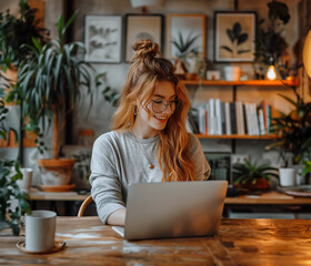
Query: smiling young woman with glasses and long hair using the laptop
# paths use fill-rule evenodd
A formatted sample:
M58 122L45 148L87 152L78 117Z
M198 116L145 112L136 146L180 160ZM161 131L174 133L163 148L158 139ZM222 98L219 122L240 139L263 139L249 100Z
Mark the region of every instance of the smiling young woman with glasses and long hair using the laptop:
M185 130L190 102L172 63L151 40L133 49L113 131L99 136L92 151L91 194L102 223L111 225L124 225L130 184L210 175L199 140Z

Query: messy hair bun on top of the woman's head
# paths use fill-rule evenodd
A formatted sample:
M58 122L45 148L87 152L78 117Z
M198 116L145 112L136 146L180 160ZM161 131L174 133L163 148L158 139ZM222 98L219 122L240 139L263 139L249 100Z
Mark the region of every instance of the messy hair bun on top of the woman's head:
M137 41L132 48L136 51L134 59L152 59L161 54L159 44L150 39Z

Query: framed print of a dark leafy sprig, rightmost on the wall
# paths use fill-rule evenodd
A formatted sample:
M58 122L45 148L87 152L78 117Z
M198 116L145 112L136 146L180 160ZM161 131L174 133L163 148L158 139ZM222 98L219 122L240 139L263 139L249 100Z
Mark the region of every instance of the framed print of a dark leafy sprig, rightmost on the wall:
M214 12L214 61L253 62L255 12Z

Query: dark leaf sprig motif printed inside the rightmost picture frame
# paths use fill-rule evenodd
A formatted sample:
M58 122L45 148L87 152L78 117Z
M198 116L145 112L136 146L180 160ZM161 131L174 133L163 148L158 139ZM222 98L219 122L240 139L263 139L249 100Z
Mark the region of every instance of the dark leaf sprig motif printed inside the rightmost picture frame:
M235 22L232 29L227 29L227 35L231 41L231 47L221 45L221 49L230 52L232 55L250 52L250 50L239 49L239 45L249 39L249 34L242 32L242 27L239 22Z

